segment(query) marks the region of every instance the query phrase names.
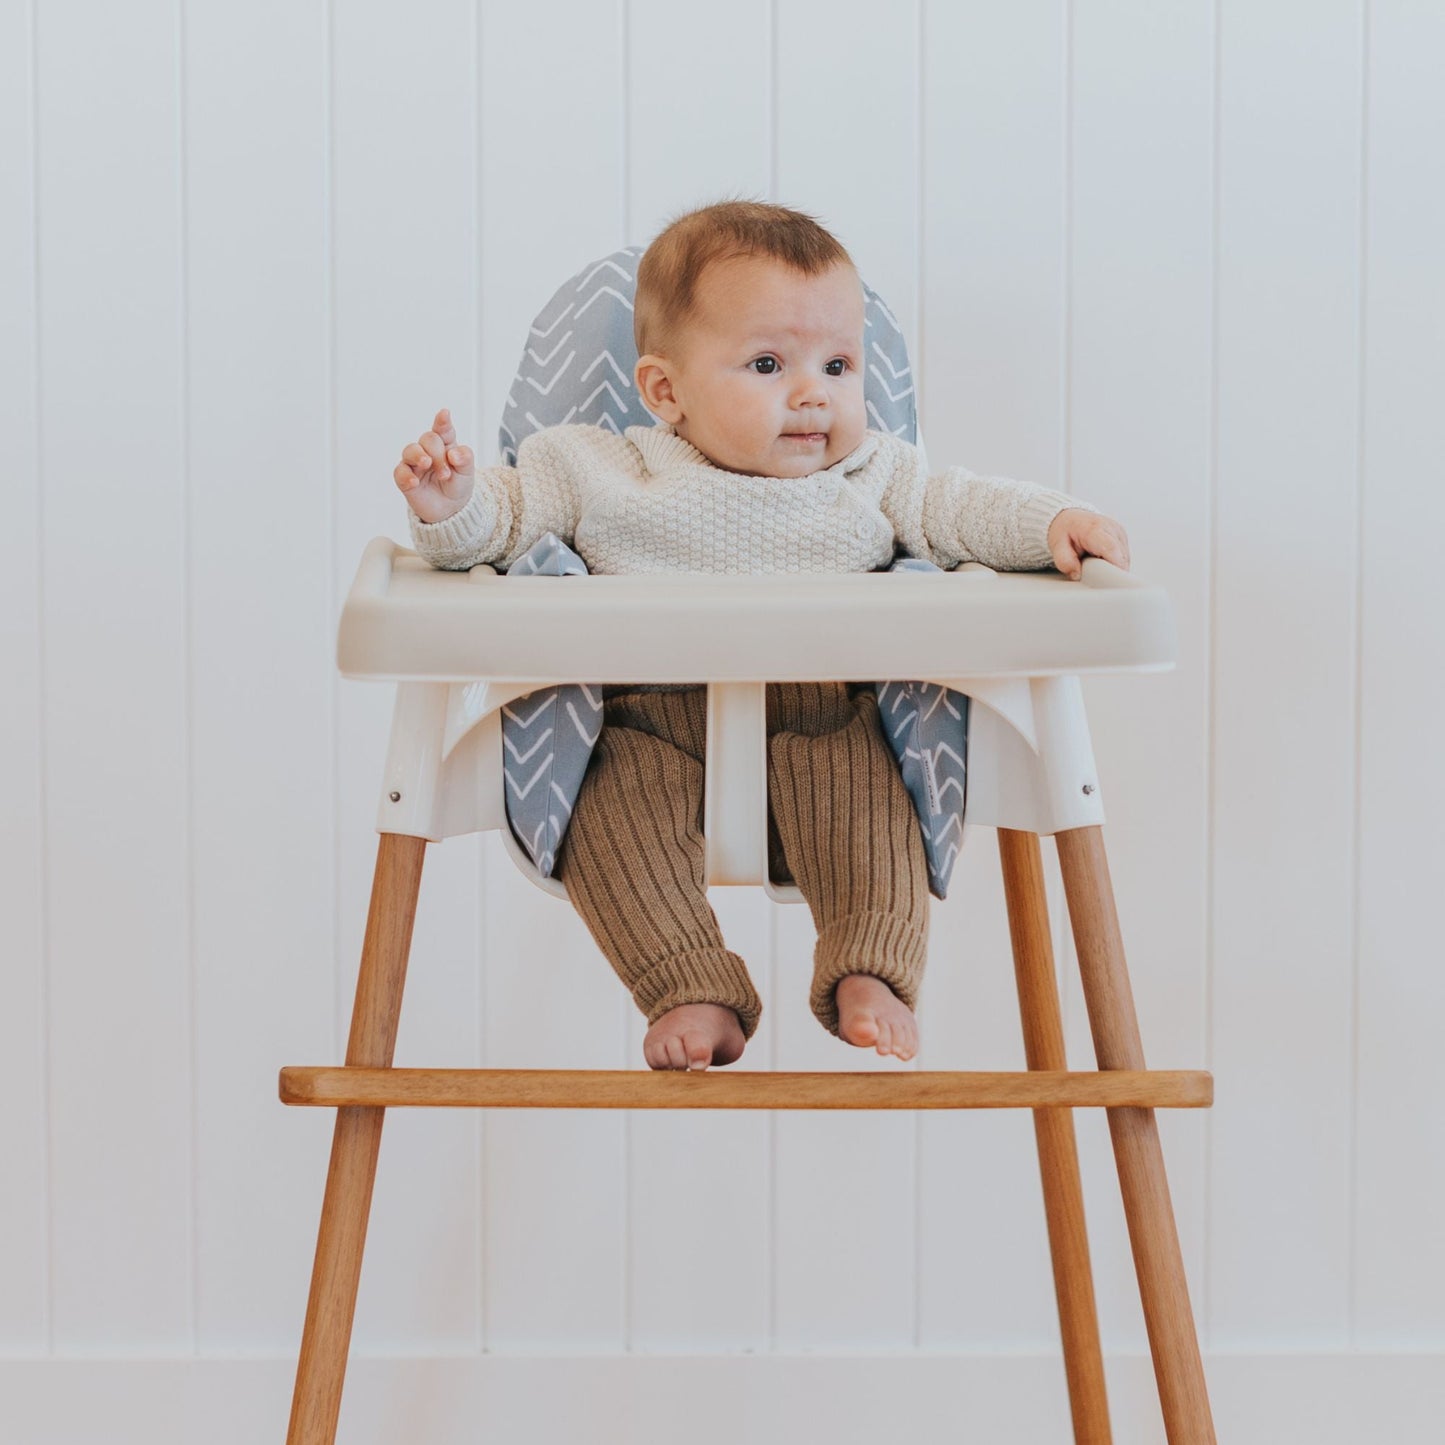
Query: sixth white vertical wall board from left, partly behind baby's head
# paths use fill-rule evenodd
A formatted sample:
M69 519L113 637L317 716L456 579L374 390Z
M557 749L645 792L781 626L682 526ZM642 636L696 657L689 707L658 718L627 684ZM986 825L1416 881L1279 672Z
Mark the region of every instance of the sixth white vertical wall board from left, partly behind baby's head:
M767 0L679 9L631 0L629 238L644 246L673 215L724 197L767 197L772 26ZM686 55L686 64L678 56ZM649 418L639 418L640 422ZM714 889L730 948L747 959L763 1022L738 1068L767 1064L770 905L760 889ZM629 1068L643 1066L646 1019L629 1003ZM773 1121L756 1111L639 1111L629 1136L631 1350L746 1350L769 1334ZM699 1309L698 1303L707 1302Z

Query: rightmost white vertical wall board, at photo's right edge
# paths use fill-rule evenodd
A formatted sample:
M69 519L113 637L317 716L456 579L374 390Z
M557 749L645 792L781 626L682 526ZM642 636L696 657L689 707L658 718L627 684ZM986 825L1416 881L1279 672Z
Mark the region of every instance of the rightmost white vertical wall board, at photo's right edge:
M1371 0L1355 1342L1445 1344L1445 16ZM1420 146L1422 137L1432 137Z

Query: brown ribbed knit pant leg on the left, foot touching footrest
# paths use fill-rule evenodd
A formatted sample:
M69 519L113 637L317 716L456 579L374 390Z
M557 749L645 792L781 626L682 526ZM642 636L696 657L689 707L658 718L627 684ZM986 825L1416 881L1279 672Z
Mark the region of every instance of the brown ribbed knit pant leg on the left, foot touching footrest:
M717 1003L750 1039L763 1001L704 886L705 737L705 689L608 698L556 876L647 1023Z

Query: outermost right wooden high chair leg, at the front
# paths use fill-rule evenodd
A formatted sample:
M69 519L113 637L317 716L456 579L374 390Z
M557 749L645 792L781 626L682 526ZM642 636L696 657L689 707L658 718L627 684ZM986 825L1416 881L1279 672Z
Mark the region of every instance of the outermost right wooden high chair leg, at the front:
M1129 985L1124 942L1100 828L1055 835L1069 920L1084 980L1094 1052L1101 1069L1142 1069L1144 1051ZM1144 1306L1149 1348L1169 1445L1214 1445L1214 1420L1204 1383L1189 1286L1179 1251L1169 1181L1152 1108L1111 1108L1118 1188Z

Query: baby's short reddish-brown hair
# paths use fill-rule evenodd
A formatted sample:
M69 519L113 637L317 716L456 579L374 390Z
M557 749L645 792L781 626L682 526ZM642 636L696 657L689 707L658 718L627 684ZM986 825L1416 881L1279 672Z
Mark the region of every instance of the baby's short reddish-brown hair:
M802 211L767 201L718 201L669 221L637 264L633 337L637 355L676 344L708 266L770 256L805 276L853 264L842 243Z

